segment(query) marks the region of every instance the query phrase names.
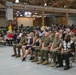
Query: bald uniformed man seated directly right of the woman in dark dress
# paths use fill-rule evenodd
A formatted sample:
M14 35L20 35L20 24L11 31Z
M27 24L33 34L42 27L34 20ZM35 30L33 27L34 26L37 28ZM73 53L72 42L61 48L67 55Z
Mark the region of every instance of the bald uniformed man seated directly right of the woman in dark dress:
M37 62L37 64L43 64L46 65L48 64L48 52L49 52L49 47L50 47L50 37L49 33L45 32L45 39L42 43L42 47L40 49L40 60ZM43 57L45 57L45 61L43 60Z

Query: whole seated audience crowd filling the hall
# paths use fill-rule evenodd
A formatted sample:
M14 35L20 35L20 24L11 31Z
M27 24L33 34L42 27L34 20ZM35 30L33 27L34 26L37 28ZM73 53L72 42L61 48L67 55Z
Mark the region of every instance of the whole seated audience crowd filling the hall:
M24 27L22 26L21 28ZM70 69L69 58L74 56L76 52L75 25L52 24L49 27L28 26L26 28L25 32L19 28L13 31L7 31L7 34L4 31L0 32L2 40L6 41L9 46L13 45L14 54L12 57L21 56L22 61L25 61L27 55L30 54L30 60L32 62L46 65L49 63L50 54L53 58L51 67L63 67L63 63L65 63L64 70ZM20 50L22 50L22 53Z

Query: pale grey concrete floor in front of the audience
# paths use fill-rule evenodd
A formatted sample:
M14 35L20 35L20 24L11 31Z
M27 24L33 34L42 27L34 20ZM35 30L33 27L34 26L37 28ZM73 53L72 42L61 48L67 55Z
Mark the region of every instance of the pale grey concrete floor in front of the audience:
M76 64L64 71L63 68L52 68L49 65L37 65L29 61L25 62L20 58L11 57L12 47L0 47L0 75L76 75Z

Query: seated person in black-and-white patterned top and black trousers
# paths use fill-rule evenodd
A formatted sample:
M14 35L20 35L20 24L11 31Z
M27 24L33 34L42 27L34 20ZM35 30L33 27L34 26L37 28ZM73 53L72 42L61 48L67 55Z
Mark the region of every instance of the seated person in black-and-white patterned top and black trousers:
M65 60L64 70L70 69L69 58L73 56L75 50L74 42L70 39L70 36L65 35L64 41L62 43L61 52L57 54L58 65L56 67L63 67L63 59Z

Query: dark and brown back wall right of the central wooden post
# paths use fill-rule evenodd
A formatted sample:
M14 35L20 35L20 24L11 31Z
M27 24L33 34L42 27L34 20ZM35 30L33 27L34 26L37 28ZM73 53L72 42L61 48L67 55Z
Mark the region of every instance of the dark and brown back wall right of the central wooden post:
M47 17L47 25L50 26L51 24L64 24L66 25L66 17ZM76 24L76 17L69 16L68 17L68 25Z

